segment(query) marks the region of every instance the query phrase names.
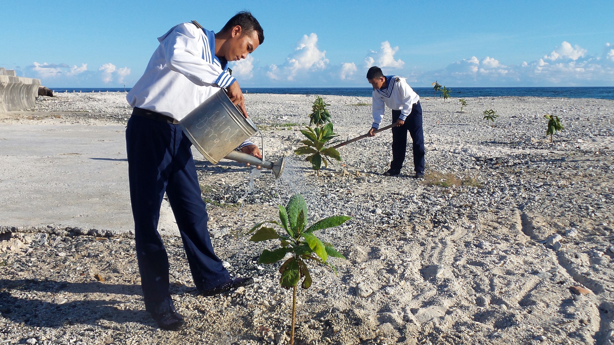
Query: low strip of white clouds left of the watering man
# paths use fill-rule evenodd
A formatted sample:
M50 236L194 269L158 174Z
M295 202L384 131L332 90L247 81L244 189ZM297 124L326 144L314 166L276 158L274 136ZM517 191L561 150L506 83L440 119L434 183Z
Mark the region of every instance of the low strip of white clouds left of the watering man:
M130 76L130 68L117 68L112 63L106 63L97 70L87 68L87 63L81 66L69 66L65 63L50 64L37 63L26 66L20 75L41 79L44 85L57 86L60 84L68 86L79 86L82 83L122 84L127 76Z

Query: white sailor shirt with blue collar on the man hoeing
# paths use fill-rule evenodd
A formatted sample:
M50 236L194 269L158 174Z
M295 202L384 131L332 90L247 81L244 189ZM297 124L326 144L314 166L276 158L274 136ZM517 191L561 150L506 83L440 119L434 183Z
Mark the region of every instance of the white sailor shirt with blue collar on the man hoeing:
M408 85L405 78L399 76L385 76L386 88L373 89L373 112L372 128L376 130L384 118L386 108L384 104L392 110L401 110L399 120L405 121L410 115L411 107L418 103L420 96Z

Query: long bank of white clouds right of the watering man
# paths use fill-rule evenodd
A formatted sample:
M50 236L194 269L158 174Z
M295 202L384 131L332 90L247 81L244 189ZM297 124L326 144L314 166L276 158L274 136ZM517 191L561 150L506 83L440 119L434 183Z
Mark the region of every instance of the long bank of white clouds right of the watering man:
M562 42L550 54L533 61L502 64L497 58L471 56L455 61L446 68L435 71L408 71L405 61L398 58L398 46L389 41L381 42L379 50L367 50L360 64L365 71L379 66L385 74L408 77L417 85L430 85L433 80L445 80L455 86L548 86L548 85L604 85L614 82L614 45L605 44L600 56L589 55L579 45ZM258 83L290 85L309 82L315 86L335 85L364 86L363 73L352 61L331 64L325 50L317 47L317 34L304 35L282 64L257 66L254 60L235 63L240 77ZM359 74L359 76L358 76Z

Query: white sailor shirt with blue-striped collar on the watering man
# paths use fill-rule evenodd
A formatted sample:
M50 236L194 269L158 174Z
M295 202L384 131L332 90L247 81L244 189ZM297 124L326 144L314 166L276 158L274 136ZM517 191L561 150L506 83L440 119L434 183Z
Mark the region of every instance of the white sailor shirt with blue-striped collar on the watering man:
M215 33L181 23L158 37L141 79L126 99L131 107L181 120L222 87L229 87L227 61L215 55Z

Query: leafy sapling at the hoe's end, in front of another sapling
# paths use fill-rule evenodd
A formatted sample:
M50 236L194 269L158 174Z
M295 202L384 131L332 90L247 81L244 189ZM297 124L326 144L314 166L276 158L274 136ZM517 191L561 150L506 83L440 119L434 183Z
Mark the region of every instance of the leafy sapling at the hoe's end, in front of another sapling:
M324 163L325 168L328 168L328 163L331 163L330 158L338 161L341 160L339 151L330 147L330 145L339 142L338 140L330 141L338 137L338 135L333 133L332 123L327 123L323 127L305 128L307 129L301 130L301 133L307 137L306 140L301 141L305 146L294 150L294 153L297 155L309 155L306 160L311 162L311 168L316 171L317 176L320 176L322 163Z

